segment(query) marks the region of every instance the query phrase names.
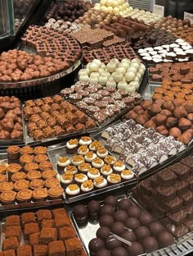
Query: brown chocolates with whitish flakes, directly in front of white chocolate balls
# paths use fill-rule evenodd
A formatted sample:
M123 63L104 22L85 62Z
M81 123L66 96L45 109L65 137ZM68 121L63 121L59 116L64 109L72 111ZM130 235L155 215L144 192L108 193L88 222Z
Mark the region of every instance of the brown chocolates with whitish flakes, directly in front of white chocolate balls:
M141 99L135 92L82 81L62 89L61 95L100 125L112 121Z

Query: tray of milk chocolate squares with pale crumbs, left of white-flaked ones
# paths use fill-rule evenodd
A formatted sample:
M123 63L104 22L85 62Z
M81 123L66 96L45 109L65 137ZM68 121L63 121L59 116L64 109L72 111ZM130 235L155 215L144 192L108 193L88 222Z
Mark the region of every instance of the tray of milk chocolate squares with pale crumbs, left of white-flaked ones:
M34 140L72 134L96 126L91 118L60 95L26 101L24 116L28 134Z

